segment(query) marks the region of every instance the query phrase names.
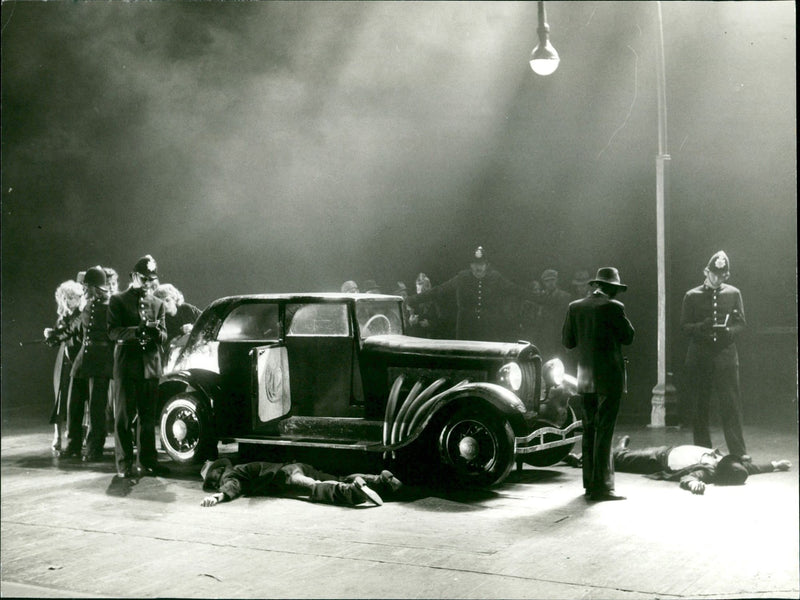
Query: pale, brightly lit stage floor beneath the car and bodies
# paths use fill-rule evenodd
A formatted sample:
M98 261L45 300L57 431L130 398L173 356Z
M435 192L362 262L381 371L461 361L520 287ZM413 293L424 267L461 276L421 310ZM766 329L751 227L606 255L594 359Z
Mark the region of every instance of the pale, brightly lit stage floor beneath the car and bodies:
M27 424L26 424L27 423ZM4 421L3 597L797 598L796 427L747 427L755 460L792 470L710 486L617 474L587 503L566 465L499 489L410 489L382 507L243 498L203 508L196 468L130 485L50 457L48 427ZM619 427L631 447L690 443ZM714 440L722 444L720 431ZM723 446L724 449L724 446ZM236 446L222 447L236 459ZM162 460L166 457L162 455Z

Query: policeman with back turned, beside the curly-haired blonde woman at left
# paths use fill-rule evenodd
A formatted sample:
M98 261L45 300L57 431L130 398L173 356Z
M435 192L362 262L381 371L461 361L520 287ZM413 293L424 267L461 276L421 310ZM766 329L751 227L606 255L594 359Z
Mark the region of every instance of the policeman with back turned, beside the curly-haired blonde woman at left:
M108 337L108 285L101 266L86 270L86 306L81 311L82 344L72 364L68 436L64 456L80 456L84 408L89 405L85 461L101 460L106 440L105 408L114 367L114 347Z

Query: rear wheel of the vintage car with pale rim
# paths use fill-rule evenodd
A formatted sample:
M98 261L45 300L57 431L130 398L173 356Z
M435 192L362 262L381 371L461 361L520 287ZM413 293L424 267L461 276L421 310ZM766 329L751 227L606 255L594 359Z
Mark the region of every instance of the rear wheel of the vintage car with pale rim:
M211 420L196 395L176 394L161 411L161 447L179 463L201 462L216 454Z

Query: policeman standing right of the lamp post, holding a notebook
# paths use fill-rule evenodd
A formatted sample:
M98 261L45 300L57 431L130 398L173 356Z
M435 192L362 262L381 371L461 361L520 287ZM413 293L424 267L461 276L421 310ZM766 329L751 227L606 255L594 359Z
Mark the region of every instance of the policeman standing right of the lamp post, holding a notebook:
M734 337L745 328L742 294L725 281L730 261L722 250L704 269L702 285L686 292L681 329L689 336L686 392L693 408L694 443L711 446L708 413L712 388L719 401L728 452L745 456L739 394L739 354Z

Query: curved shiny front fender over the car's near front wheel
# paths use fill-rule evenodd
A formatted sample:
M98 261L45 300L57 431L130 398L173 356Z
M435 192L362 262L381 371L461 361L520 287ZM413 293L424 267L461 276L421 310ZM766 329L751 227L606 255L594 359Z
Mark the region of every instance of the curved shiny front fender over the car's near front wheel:
M441 387L441 380L438 380L430 387L434 386L436 386L435 391L439 393L426 395L422 392L409 397L406 403L401 405L401 410L397 414L399 418L389 426L393 432L391 439L388 440L391 446L399 448L410 444L421 435L435 415L448 406L463 403L467 398L478 399L494 407L508 419L515 435L525 431L525 405L514 392L500 385L461 381L444 391L439 391L437 388Z

